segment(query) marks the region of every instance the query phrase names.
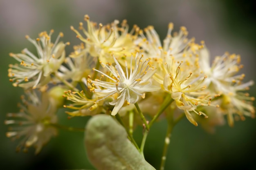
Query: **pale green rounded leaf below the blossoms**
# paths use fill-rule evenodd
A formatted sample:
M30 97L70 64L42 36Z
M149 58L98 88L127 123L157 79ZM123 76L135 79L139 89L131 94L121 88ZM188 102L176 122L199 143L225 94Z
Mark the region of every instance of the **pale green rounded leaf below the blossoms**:
M88 158L98 170L155 170L128 140L124 127L111 116L92 117L85 134Z

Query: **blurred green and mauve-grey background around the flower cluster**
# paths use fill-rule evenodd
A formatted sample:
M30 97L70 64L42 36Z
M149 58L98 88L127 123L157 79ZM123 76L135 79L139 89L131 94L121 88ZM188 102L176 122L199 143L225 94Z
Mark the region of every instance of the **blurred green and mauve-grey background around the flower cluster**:
M204 40L211 57L225 51L242 56L246 74L245 81L255 78L256 65L256 7L253 0L0 0L0 167L18 170L95 169L88 162L83 146L83 133L60 131L39 155L34 149L28 153L16 153L17 141L5 137L7 127L3 124L8 112L17 112L16 107L22 89L12 87L8 81L9 63L15 60L9 52L33 48L25 35L37 37L40 31L54 28L55 35L62 31L63 41L79 44L70 25L78 27L83 16L103 24L113 20L127 19L130 26L140 28L148 25L163 39L169 22L175 30L186 26L189 37L197 42ZM256 96L255 86L250 89ZM58 112L61 124L84 127L87 118L67 119L63 110ZM150 130L146 146L146 160L158 169L164 144L166 122L160 121ZM141 128L135 133L141 140ZM166 170L226 170L256 169L256 119L247 118L236 122L233 128L227 124L217 127L209 134L195 127L186 119L173 131L168 150Z

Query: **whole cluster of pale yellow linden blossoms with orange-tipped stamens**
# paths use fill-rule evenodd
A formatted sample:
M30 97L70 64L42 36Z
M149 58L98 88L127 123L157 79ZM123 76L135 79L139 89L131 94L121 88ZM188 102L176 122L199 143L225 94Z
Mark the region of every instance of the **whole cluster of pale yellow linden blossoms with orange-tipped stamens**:
M28 137L22 143L25 147L35 145L38 152L55 135L54 129L47 130L49 124L45 121L47 118L48 123L56 123L54 112L63 103L59 96L72 102L64 105L75 110L66 112L70 116L99 113L126 116L134 112L139 113L146 128L143 115L148 114L154 120L170 110L186 116L195 126L202 122L197 115L202 115L208 119L206 122L211 122L210 129L222 124L225 115L230 126L234 125L234 118L244 120L245 116L255 116L254 98L243 92L253 82L243 83L245 75L237 74L243 68L239 55L225 53L215 57L210 65L204 41L197 44L194 38L187 38L184 26L173 32L172 23L161 41L153 26L142 30L135 25L129 31L126 20L106 25L92 22L88 15L84 20L85 27L82 22L78 29L71 26L81 44L74 46L69 56L65 54L65 46L70 43L58 42L63 33L52 43L53 31L42 32L35 40L26 36L37 54L26 48L19 54L10 53L19 62L9 65L8 70L15 87L33 91L47 88L49 83L52 84L49 87L60 86L58 93L54 91L55 102L49 103L43 94L40 112L35 111L37 105L27 104L28 108L20 113L9 114L25 118L26 124L30 124L20 132L7 133L8 137L26 134ZM49 107L50 104L53 106ZM6 121L13 123L16 121ZM42 132L47 133L47 140L40 139Z

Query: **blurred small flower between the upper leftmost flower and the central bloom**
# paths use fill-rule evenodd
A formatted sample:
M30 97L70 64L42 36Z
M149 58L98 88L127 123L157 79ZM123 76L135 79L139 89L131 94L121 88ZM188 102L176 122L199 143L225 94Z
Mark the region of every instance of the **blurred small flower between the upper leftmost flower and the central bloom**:
M80 46L74 46L74 52L70 57L65 58L65 64L61 65L57 75L64 79L72 79L72 81L79 82L83 77L87 77L95 65L94 57L88 55L83 43Z

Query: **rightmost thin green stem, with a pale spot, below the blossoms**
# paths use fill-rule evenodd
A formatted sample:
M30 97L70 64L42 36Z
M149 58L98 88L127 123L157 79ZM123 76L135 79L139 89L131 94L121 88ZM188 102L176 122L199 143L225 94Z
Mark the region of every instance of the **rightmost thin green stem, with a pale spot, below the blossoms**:
M166 155L167 155L167 151L168 151L168 146L170 144L172 130L173 130L173 124L168 123L168 128L167 128L167 132L166 132L165 139L164 139L164 150L163 150L163 154L162 154L162 158L161 158L160 170L164 170Z

